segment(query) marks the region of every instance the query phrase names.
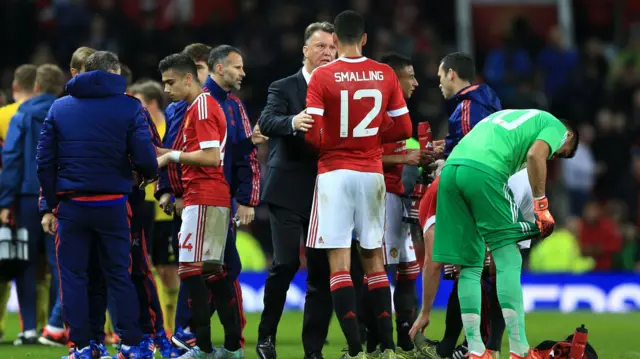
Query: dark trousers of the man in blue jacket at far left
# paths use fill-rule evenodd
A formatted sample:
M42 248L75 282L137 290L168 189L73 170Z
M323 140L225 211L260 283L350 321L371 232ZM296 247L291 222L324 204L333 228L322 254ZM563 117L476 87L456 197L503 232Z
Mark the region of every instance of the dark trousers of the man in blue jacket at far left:
M24 271L16 277L16 292L20 304L22 330L36 330L36 269L38 255L41 248L47 252L47 262L51 267L51 286L57 294L58 273L55 261L55 246L53 238L42 230L40 212L38 210L38 196L24 196L18 198L15 208L16 228L26 229L28 236L29 263ZM47 243L50 242L50 243ZM54 273L55 272L55 273ZM54 286L56 289L54 289Z

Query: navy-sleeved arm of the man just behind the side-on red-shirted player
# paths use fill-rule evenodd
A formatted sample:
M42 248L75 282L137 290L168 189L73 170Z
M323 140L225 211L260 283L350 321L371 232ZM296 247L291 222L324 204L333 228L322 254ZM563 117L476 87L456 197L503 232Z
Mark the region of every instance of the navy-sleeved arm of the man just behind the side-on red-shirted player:
M258 148L251 141L251 122L247 111L239 98L230 97L238 104L242 121L236 122L232 144L232 180L231 193L236 201L249 207L255 207L260 201L260 163L258 162ZM253 220L253 218L252 218Z

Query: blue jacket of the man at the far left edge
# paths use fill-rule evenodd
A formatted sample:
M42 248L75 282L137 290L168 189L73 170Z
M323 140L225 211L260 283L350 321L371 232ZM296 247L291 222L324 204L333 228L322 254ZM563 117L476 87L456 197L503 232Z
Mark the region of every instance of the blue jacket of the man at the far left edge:
M4 168L0 176L0 208L9 208L18 196L37 196L36 149L42 124L57 96L42 94L20 105L9 122L2 150Z

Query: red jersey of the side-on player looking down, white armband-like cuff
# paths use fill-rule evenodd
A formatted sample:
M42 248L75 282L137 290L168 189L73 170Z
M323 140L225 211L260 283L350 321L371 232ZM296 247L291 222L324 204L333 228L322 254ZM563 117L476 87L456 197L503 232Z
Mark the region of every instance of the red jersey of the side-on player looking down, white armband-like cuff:
M224 178L224 149L227 142L227 120L222 108L208 93L200 94L187 108L182 121L182 148L195 152L207 148L220 149L220 166L182 166L184 204L231 207L229 184Z

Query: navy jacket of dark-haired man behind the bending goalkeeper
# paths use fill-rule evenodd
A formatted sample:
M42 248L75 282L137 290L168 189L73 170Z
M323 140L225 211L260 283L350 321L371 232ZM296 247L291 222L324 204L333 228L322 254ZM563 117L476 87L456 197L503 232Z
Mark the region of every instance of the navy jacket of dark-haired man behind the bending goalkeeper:
M446 102L449 116L449 132L445 139L444 155L448 157L453 148L471 129L490 114L502 110L500 99L491 87L485 84L463 88Z

